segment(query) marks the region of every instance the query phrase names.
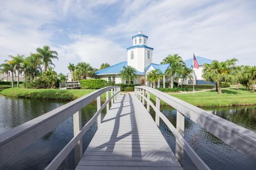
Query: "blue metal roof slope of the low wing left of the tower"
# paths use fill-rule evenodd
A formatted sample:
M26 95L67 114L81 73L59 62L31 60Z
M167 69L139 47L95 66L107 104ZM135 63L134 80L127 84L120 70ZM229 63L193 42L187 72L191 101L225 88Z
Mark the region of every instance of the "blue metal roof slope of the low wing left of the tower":
M106 75L106 74L119 74L127 67L127 62L121 62L115 65L111 65L105 69L101 69L95 72L95 75ZM144 75L142 72L137 71L137 75Z

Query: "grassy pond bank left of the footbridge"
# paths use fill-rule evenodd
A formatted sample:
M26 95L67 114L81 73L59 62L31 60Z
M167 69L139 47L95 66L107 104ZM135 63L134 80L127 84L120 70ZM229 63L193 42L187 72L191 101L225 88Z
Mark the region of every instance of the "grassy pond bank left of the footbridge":
M94 90L59 90L59 89L23 89L9 88L0 91L0 95L7 97L35 98L46 100L71 101L89 94ZM105 95L102 95L104 98Z

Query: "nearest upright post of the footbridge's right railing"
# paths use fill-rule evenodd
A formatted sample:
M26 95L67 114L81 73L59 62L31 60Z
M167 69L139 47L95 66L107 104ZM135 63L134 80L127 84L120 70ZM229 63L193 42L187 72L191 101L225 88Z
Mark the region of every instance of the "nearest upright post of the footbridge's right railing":
M176 129L177 131L184 137L184 124L185 124L185 117L180 112L177 111L177 123ZM179 160L180 164L183 165L183 147L181 143L176 138L176 149L175 149L175 156Z

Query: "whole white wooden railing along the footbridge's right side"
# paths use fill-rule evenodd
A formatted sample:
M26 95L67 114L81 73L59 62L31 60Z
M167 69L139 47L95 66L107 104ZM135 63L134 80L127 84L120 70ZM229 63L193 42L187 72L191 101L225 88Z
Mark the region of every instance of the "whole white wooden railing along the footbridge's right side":
M150 106L156 113L155 122L159 126L159 119L162 118L163 122L168 126L171 132L176 137L175 156L179 162L183 163L183 150L185 150L196 165L198 169L210 169L203 160L196 154L196 152L189 146L184 138L184 124L185 116L190 118L202 128L206 129L215 137L218 137L223 142L235 148L246 157L256 161L256 133L245 129L232 122L224 120L221 117L204 111L201 108L193 106L183 100L172 97L159 90L146 87L136 86L134 88L135 95L145 105L147 103L147 111L149 112ZM147 97L146 97L147 94ZM156 98L156 105L150 101L150 94ZM160 111L161 100L172 106L177 110L177 126L176 128Z

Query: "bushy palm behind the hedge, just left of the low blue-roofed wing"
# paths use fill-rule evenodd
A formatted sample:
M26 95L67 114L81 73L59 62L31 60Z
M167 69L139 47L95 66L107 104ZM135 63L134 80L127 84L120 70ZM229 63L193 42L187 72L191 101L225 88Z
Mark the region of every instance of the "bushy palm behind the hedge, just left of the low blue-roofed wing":
M94 69L89 63L81 62L76 65L74 76L77 80L86 79L87 77L92 77L93 74L94 74Z

